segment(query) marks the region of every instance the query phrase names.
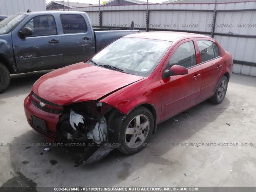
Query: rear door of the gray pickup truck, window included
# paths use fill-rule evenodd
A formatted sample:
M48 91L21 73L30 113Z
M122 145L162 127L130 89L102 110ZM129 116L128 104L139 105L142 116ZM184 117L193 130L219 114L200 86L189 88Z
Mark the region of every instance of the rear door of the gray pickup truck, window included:
M82 62L95 52L93 31L82 14L60 14L64 66Z

